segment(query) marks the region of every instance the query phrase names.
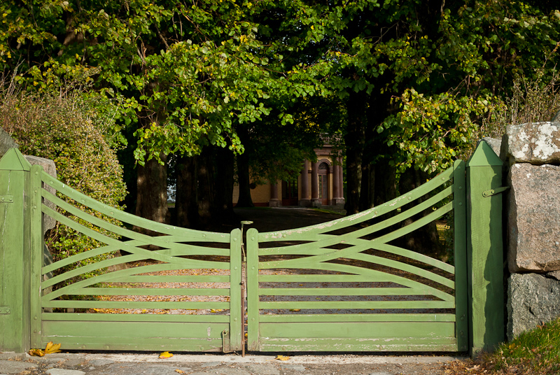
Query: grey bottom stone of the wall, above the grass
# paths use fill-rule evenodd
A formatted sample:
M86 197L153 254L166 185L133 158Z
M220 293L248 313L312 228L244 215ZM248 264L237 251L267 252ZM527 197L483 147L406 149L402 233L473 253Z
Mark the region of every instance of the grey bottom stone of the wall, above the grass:
M512 274L507 287L508 339L560 316L560 281L538 274Z

